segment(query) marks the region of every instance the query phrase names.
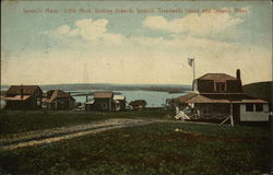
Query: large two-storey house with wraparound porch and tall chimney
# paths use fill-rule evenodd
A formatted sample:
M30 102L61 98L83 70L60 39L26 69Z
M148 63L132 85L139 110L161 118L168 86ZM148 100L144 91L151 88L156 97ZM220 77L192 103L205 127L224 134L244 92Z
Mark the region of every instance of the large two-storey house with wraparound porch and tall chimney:
M192 108L198 118L236 121L268 121L269 104L244 94L240 71L236 78L225 73L207 73L193 81L193 93L175 98L179 109Z

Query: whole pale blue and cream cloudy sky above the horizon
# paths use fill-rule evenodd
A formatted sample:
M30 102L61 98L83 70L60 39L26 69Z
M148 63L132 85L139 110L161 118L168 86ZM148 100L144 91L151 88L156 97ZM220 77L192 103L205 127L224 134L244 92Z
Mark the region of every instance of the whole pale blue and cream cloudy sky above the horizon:
M270 1L1 1L1 84L272 81Z

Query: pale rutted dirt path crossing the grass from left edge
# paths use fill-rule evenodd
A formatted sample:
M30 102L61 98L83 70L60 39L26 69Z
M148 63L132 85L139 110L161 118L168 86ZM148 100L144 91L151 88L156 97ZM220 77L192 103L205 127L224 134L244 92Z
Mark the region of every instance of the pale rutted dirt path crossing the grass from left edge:
M119 118L119 119L108 119L104 121L95 121L92 124L24 132L14 135L13 137L0 139L0 150L14 150L24 147L51 143L90 133L97 133L105 130L142 126L152 122L162 122L162 120Z

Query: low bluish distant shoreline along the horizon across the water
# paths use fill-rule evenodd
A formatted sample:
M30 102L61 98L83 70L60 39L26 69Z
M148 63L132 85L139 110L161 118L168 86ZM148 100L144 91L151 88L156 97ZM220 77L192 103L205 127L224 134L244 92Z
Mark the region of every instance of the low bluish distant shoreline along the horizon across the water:
M105 91L161 91L169 93L181 93L191 91L191 85L178 84L111 84L111 83L96 83L96 84L50 84L40 85L43 91L48 90L63 90L63 91L78 91L78 90L105 90ZM8 90L9 85L1 85L1 90Z

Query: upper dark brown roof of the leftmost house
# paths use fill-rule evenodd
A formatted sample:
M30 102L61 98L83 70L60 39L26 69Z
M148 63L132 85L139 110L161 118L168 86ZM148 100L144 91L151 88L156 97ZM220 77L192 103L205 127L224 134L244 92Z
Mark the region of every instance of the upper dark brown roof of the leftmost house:
M11 85L7 91L7 95L21 95L22 88L24 95L33 95L37 89L40 90L38 85Z

